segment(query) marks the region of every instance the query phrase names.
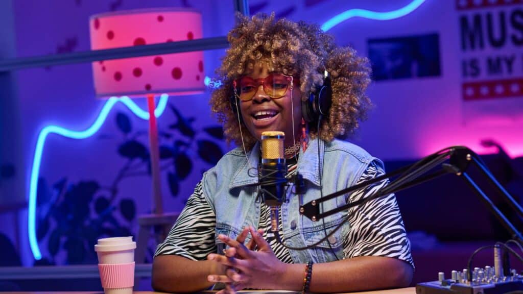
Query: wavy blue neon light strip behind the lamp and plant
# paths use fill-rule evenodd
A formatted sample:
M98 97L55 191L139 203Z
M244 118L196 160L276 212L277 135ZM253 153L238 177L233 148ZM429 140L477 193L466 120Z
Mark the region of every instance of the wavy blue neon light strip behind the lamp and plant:
M154 116L160 117L165 107L167 106L167 94L162 94L160 96L160 101L156 109L154 109ZM141 119L149 120L149 112L142 110L138 105L136 105L129 97L123 96L121 98L111 97L105 103L104 107L101 109L98 118L95 120L92 126L84 131L72 131L67 130L58 126L47 126L40 131L38 135L38 140L36 143L35 157L33 158L33 164L31 169L31 178L29 183L29 207L28 207L28 233L29 233L29 245L31 246L31 251L35 259L40 260L42 254L40 253L40 248L38 247L38 242L36 239L36 196L37 196L37 186L38 186L38 176L40 174L40 164L42 161L43 147L46 143L47 135L55 133L63 137L71 139L85 139L94 135L100 127L104 124L109 115L110 110L115 104L121 102L125 104L129 110L131 110L136 116Z

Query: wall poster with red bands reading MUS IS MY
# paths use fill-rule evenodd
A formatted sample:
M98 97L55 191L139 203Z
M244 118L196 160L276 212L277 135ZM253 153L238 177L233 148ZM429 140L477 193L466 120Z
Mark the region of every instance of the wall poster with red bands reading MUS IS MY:
M466 123L523 121L523 1L456 0Z

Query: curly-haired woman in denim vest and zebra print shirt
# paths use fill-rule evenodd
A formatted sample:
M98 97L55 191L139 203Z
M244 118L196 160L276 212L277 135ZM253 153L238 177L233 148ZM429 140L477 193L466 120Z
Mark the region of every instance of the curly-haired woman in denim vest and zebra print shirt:
M338 48L319 27L261 15L239 16L218 73L212 110L238 148L203 175L153 263L153 288L188 292L223 283L243 288L348 292L405 287L413 262L394 195L313 222L299 202L356 185L384 173L382 162L344 138L370 105L368 62ZM325 72L331 75L326 78ZM325 118L303 120L302 101L332 84ZM308 116L310 119L310 116ZM317 127L319 125L319 128ZM269 209L252 185L263 131L285 132L288 177L300 173L303 196L287 190L279 235L269 230ZM249 173L251 171L251 173ZM324 211L367 197L386 181L324 203ZM348 218L348 221L344 221ZM327 241L307 250L337 225Z

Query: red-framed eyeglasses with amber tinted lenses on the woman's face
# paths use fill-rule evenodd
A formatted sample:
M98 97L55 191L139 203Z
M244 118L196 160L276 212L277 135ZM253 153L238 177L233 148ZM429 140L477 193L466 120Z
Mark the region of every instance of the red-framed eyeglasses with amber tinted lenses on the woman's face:
M251 100L263 85L263 91L272 99L278 99L287 93L289 85L292 88L293 77L285 74L271 73L265 78L242 76L233 81L234 95L242 101Z

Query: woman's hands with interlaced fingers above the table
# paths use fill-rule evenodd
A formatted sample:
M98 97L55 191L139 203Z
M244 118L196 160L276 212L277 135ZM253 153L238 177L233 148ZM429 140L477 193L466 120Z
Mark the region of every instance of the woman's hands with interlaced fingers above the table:
M244 244L247 234L251 240ZM222 282L225 289L217 294L234 293L245 288L278 289L281 275L286 272L286 264L281 262L269 243L262 236L263 230L256 231L253 227L244 228L233 240L225 235L218 238L229 248L225 255L209 254L207 259L223 265L224 275L209 275L212 282ZM280 286L281 287L281 286Z

